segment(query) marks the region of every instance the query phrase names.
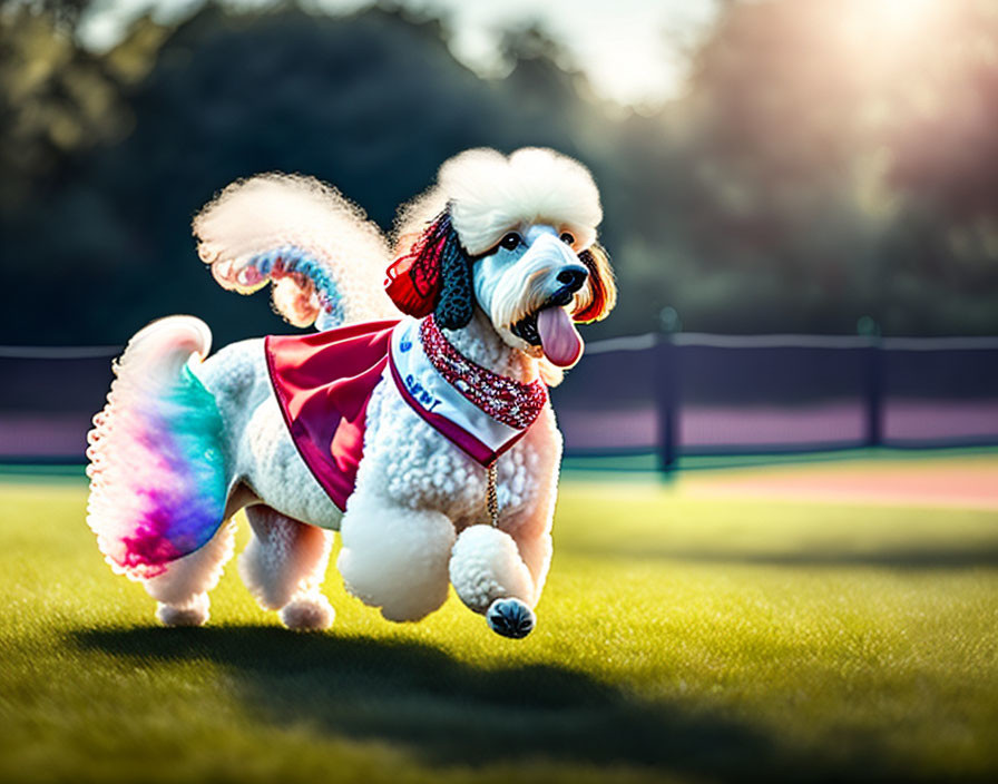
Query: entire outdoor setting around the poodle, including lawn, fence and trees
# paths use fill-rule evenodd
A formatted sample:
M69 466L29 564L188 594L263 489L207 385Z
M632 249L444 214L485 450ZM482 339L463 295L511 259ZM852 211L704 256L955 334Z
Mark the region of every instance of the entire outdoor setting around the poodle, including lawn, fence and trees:
M585 163L619 283L538 630L330 574L285 635L234 568L155 628L84 525L111 362L295 331L195 212L390 228L480 145ZM0 0L0 782L998 782L998 0Z

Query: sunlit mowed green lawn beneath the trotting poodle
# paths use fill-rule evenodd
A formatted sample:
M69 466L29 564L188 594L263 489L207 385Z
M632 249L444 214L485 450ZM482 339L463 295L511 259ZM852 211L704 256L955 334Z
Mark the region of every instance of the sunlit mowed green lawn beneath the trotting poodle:
M82 481L0 481L0 781L998 780L998 512L696 473L568 476L521 641L453 596L389 624L333 568L329 633L234 565L209 626L160 628Z

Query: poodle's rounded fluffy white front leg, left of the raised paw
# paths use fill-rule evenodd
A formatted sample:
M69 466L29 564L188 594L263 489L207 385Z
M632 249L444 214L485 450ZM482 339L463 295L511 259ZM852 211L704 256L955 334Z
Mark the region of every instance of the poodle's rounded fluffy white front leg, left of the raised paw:
M346 590L389 620L419 620L447 600L454 527L446 514L359 487L340 535L336 566Z

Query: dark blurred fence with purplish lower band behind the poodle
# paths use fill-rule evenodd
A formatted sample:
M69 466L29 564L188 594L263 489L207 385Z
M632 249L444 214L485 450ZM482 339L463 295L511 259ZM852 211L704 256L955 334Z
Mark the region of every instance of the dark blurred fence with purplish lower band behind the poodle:
M118 347L0 347L0 461L79 462ZM998 444L998 339L640 335L552 391L569 455Z

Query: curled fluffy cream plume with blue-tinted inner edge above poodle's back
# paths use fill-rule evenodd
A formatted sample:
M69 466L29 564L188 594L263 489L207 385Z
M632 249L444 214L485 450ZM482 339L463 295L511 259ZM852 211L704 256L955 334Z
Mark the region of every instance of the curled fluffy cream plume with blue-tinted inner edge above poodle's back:
M295 326L398 315L381 286L384 237L317 179L265 174L233 183L195 217L194 233L221 286L252 294L273 283L274 308Z

